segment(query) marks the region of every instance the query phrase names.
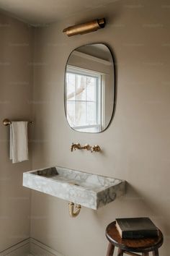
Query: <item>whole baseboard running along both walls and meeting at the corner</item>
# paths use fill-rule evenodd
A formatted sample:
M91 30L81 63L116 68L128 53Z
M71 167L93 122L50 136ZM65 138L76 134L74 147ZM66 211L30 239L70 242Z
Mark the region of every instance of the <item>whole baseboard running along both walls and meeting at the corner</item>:
M33 239L28 238L9 249L0 252L0 256L63 256L61 253L48 247L45 244Z

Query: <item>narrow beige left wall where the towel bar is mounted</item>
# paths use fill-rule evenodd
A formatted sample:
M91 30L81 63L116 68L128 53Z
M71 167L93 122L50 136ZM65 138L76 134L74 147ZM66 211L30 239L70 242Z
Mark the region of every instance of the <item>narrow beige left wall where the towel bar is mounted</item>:
M31 161L9 161L9 127L2 121L32 119L32 39L31 27L1 14L0 251L30 236L30 191L22 187L22 172Z

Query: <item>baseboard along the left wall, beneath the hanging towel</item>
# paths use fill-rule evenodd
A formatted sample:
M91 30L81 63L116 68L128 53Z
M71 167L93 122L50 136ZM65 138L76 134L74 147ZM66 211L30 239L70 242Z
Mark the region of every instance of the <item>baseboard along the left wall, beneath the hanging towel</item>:
M0 256L28 256L30 254L30 239L26 239L0 252Z

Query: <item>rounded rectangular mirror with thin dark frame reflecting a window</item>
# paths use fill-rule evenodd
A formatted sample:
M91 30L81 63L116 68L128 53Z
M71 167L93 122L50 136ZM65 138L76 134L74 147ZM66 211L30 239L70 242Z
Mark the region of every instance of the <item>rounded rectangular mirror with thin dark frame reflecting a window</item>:
M65 72L65 112L71 128L102 132L115 106L115 68L103 43L81 46L68 57Z

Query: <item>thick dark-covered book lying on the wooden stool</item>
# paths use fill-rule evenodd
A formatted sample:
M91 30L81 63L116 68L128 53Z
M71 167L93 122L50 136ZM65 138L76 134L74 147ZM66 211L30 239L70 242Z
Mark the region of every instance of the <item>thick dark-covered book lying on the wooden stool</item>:
M150 218L116 218L116 228L122 238L143 239L158 236L158 228Z

